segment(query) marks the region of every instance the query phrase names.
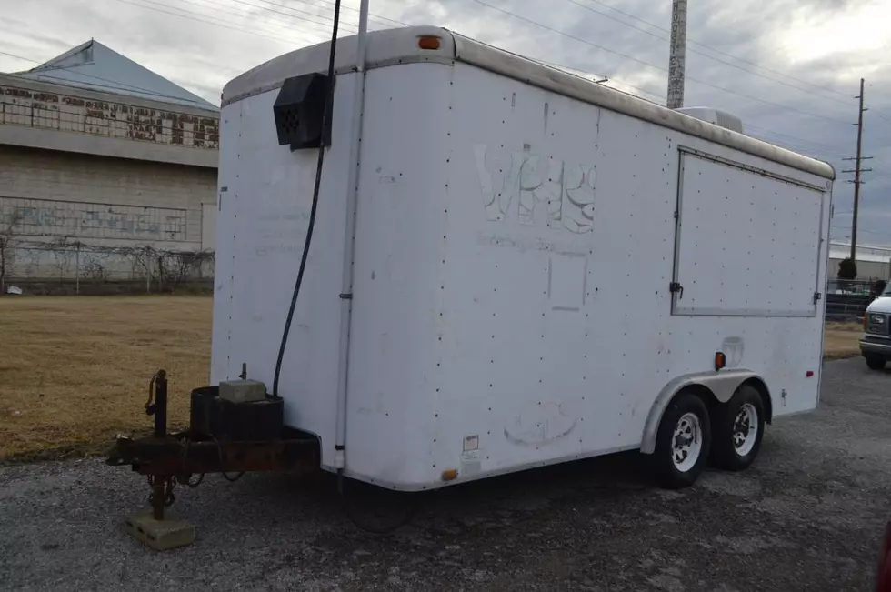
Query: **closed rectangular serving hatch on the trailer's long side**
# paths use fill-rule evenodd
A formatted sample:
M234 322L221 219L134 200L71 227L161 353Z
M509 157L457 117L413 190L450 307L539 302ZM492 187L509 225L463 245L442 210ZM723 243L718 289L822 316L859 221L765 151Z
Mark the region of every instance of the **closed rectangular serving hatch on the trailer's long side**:
M814 316L828 197L682 148L672 314Z

